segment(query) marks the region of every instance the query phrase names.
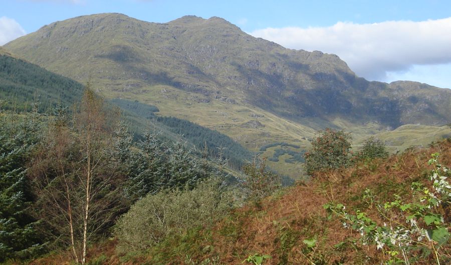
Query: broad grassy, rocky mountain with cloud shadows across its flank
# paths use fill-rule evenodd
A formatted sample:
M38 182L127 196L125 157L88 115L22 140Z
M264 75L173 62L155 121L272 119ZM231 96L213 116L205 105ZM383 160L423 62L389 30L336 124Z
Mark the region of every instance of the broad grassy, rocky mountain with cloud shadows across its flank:
M157 106L162 116L216 129L256 151L274 142L306 148L326 126L361 138L404 124L451 123L449 89L369 82L336 55L285 49L217 17L160 24L83 16L5 48L90 81L107 98Z

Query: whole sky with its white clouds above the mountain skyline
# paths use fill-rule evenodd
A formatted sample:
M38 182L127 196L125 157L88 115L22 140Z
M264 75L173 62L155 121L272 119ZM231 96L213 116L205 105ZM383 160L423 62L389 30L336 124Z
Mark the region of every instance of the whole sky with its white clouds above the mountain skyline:
M451 88L448 0L0 1L0 45L52 22L96 13L160 23L184 15L217 16L287 48L335 53L369 80Z

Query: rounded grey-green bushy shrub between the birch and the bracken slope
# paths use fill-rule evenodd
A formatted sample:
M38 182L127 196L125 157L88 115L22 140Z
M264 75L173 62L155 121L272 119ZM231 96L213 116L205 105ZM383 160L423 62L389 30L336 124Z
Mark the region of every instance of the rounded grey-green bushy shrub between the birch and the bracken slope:
M141 251L169 233L211 225L228 212L233 197L217 179L208 179L192 190L162 190L137 201L117 222L119 252Z

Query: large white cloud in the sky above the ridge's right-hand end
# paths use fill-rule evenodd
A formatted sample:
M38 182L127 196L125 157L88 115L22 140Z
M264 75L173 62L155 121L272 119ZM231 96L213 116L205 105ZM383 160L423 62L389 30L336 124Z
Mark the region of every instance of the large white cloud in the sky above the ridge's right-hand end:
M358 76L370 80L386 81L393 73L408 72L414 65L451 63L451 18L338 22L331 27L267 28L250 34L291 49L336 54Z

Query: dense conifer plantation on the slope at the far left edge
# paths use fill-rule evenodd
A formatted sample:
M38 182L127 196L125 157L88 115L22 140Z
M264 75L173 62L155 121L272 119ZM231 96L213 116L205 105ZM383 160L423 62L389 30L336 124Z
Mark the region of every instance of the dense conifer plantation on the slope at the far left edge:
M0 55L0 98L5 109L31 110L39 101L39 111L60 103L70 106L80 100L83 86L74 80L54 74L37 65Z

